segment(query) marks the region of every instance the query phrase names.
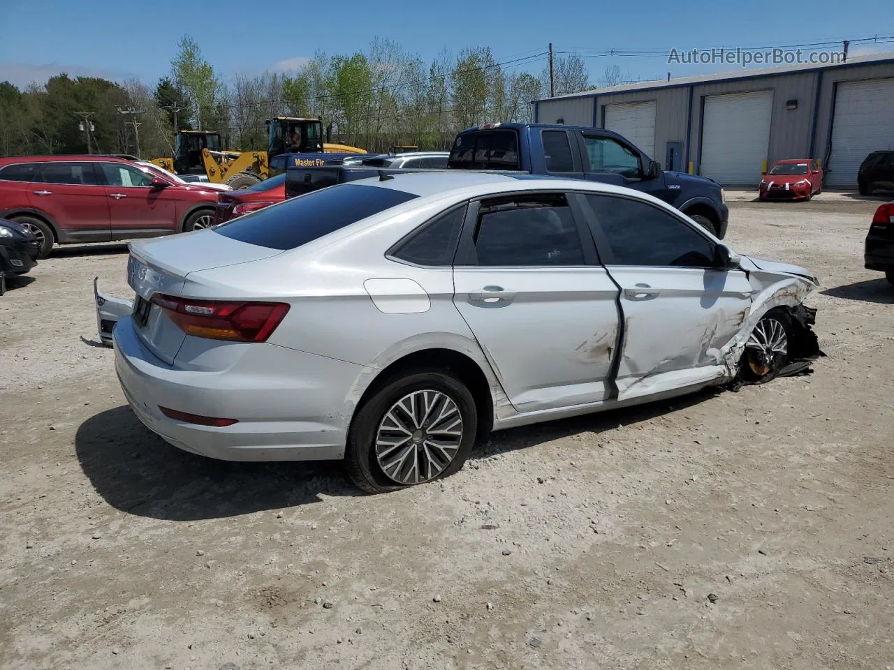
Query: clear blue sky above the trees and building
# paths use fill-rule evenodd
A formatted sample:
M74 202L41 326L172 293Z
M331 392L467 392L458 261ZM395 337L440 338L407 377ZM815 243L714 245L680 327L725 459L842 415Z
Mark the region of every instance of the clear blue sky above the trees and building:
M66 10L60 11L62 6ZM858 11L857 11L858 9ZM308 23L308 21L314 21ZM498 61L545 51L679 50L774 46L894 35L891 0L807 3L666 0L493 3L339 0L0 0L0 80L24 86L60 71L154 83L169 70L184 33L224 79L236 72L287 70L317 50L348 54L388 38L430 61L447 48L490 46ZM894 51L894 43L852 46L851 54ZM730 71L731 65L668 65L658 57L591 57L591 80L617 64L631 79ZM524 68L538 73L544 62Z

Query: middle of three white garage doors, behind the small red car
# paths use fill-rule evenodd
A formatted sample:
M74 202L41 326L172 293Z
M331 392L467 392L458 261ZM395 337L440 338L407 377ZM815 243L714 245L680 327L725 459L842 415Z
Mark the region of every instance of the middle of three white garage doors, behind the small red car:
M761 180L770 149L772 91L704 98L701 174L726 186Z

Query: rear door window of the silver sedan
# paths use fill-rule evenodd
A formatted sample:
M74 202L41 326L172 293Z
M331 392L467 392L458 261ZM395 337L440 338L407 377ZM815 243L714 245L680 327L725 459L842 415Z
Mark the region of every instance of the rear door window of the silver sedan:
M475 231L478 265L585 264L584 248L564 194L485 200Z

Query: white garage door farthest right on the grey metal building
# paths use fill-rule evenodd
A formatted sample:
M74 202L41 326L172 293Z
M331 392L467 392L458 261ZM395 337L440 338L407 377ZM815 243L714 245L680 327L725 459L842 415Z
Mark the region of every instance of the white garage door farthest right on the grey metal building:
M894 79L839 83L824 180L830 186L856 186L860 163L878 149L894 149Z

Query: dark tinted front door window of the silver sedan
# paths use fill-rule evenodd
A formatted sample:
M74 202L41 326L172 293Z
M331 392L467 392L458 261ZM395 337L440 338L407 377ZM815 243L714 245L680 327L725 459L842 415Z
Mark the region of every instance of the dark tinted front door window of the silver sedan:
M586 196L614 265L713 267L714 245L662 209L626 197Z

